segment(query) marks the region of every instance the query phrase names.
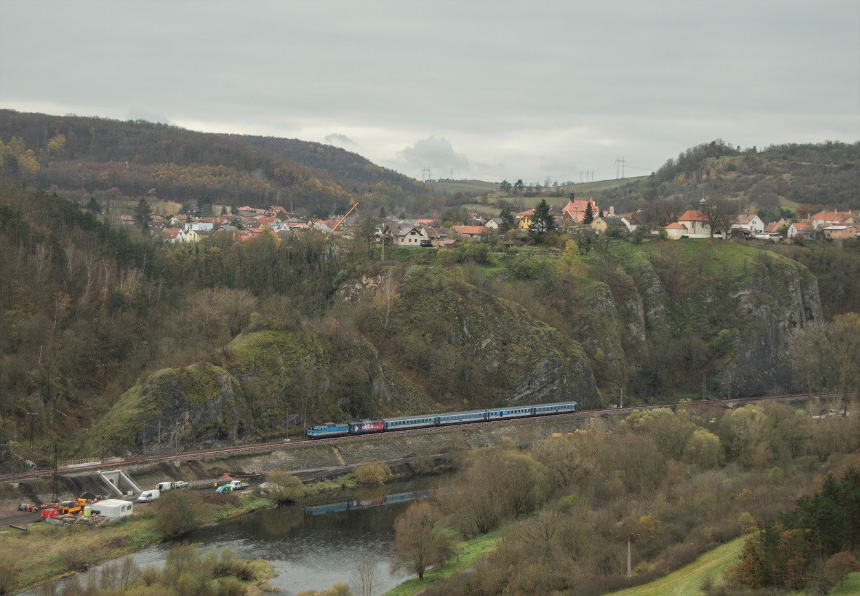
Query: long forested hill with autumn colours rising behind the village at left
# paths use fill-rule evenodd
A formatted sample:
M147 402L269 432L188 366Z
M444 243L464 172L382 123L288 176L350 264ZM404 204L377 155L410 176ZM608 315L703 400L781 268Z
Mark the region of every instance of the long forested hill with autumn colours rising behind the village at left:
M0 168L74 200L290 205L308 213L426 208L419 181L356 153L296 139L189 131L144 120L0 110Z

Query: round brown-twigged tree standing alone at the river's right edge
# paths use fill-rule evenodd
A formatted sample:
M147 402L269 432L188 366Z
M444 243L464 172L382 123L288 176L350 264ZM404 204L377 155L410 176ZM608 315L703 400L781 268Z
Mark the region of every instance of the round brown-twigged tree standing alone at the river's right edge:
M439 507L415 501L394 521L391 570L404 570L424 578L427 568L451 556L451 538L440 527Z

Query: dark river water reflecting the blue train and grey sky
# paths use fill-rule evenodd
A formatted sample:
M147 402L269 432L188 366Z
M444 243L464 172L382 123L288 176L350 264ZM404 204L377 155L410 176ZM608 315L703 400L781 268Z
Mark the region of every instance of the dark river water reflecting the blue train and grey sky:
M286 594L322 592L338 581L348 584L358 563L369 557L378 575L374 594L381 594L409 577L389 573L394 519L409 501L424 498L431 482L357 488L334 499L329 495L327 501L265 509L200 528L183 540L204 551L228 547L243 558L266 559L278 574L269 583ZM140 567L160 566L173 544L155 544L132 557ZM55 587L62 584L58 581Z

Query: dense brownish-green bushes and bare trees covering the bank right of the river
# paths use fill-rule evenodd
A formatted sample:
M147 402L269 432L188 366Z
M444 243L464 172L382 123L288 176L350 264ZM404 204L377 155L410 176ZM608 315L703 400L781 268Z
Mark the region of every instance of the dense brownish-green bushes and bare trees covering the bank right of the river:
M594 421L572 436L479 450L436 499L446 523L465 536L501 528L501 538L470 573L427 593L605 593L667 574L777 519L784 528L826 525L809 538L828 543L823 566L835 552L856 550L860 538L855 513L839 514L837 505L857 507L857 473L845 471L860 462L856 406L826 419L780 403L642 411L614 427ZM828 443L820 463L828 433L840 442ZM833 476L822 480L824 470ZM797 501L800 513L782 516L799 492L808 495ZM624 577L628 539L632 581Z

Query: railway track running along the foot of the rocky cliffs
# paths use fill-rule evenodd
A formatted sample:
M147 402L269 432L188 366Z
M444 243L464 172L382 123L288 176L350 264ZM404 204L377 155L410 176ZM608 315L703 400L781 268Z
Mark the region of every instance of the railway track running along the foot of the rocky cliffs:
M115 467L130 467L136 465L143 464L157 464L161 462L171 462L177 459L203 459L203 458L223 458L229 457L231 455L250 455L253 453L262 453L262 452L272 452L279 449L296 449L306 445L320 445L320 444L332 444L337 445L343 443L345 441L354 441L354 440L384 440L390 436L397 435L416 435L416 434L433 434L433 433L444 433L451 428L462 428L462 427L481 427L482 425L496 425L496 424L504 424L504 425L519 425L519 424L533 424L536 421L543 420L561 420L564 418L577 418L577 417L592 417L592 416L603 416L603 415L617 415L617 414L626 414L630 413L636 409L658 409L658 408L678 408L679 406L684 406L685 408L691 407L699 407L705 405L722 405L731 407L735 403L751 403L751 402L764 402L764 401L792 401L792 400L802 400L809 398L827 398L835 396L835 393L827 392L827 393L795 393L795 394L787 394L781 396L755 396L755 397L736 397L732 399L722 399L722 400L699 400L696 402L683 402L683 403L659 403L653 405L637 405L630 406L627 408L609 408L609 409L589 409L589 410L577 410L576 412L565 413L565 414L554 414L554 415L543 415L539 418L512 418L512 419L503 419L503 420L491 420L491 421L480 421L480 422L470 422L467 425L454 425L451 427L429 427L429 428L415 428L415 429L405 429L405 430L397 430L397 431L388 431L386 433L378 433L378 434L362 434L355 436L344 436L344 437L329 437L322 439L287 439L281 441L273 441L267 443L256 443L253 445L235 445L230 447L219 447L217 449L206 449L194 452L181 452L174 453L169 455L153 455L153 456L145 456L138 458L112 458L107 459L101 462L95 462L93 464L79 464L70 467L60 467L57 470L58 474L68 476L71 474L78 474L82 472L91 472L94 470L101 470L106 466L115 466ZM28 478L40 478L46 476L52 476L54 474L54 469L50 470L22 470L21 473L15 474L15 480L27 480ZM7 482L12 480L13 475L5 475L0 476L0 482Z

